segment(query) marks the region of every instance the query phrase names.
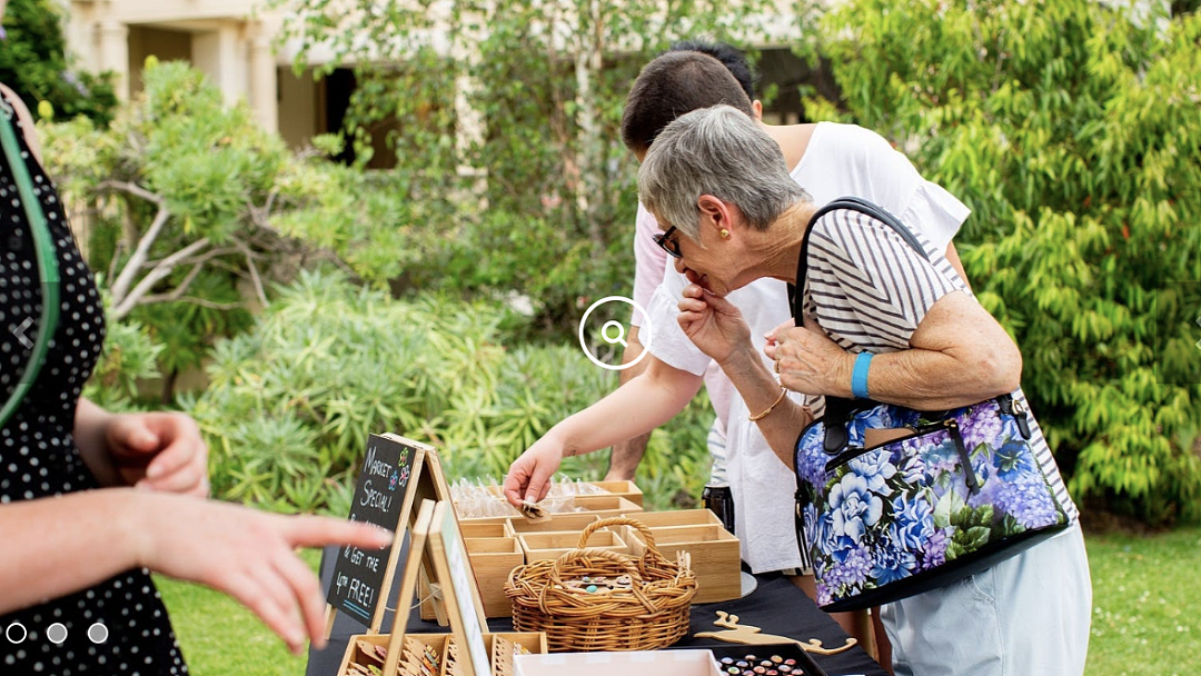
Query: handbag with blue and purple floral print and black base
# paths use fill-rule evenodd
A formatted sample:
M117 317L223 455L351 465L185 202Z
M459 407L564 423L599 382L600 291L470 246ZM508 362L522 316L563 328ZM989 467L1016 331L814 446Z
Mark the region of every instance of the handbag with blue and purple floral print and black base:
M1066 528L1032 426L1012 395L942 415L827 397L825 415L796 442L795 466L818 605L855 610L914 596ZM868 429L896 427L913 433L864 448Z

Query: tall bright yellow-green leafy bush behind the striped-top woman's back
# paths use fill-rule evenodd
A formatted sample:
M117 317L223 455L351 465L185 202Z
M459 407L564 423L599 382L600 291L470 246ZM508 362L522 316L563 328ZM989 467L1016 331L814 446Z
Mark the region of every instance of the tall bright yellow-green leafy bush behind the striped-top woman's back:
M1201 396L1170 384L1201 371L1171 283L1201 281L1201 18L852 0L820 25L849 119L972 207L967 271L1075 495L1201 518Z

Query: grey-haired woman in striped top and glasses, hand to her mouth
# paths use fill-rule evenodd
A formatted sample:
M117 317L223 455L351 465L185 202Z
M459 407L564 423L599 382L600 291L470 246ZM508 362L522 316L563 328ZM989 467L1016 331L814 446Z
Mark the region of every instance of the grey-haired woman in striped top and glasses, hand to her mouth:
M664 228L659 241L692 282L680 325L757 412L751 418L782 472L824 396L870 393L918 411L1010 393L1024 402L1016 345L942 252L919 234L924 256L859 211L813 221L818 208L789 178L779 146L736 109L694 110L669 125L638 187ZM808 274L799 280L807 234ZM763 353L724 298L759 277L801 285L805 315L802 325L769 334ZM856 372L860 353L870 357ZM783 388L808 395L809 405L782 396ZM1078 515L1034 431L1030 447L1050 467L1050 489L1071 526L958 582L884 605L896 674L1083 672L1092 591Z

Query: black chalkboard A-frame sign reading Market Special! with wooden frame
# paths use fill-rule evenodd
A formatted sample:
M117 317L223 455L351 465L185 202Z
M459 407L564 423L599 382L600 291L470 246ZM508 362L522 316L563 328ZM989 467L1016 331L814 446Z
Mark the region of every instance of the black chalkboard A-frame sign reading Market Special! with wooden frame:
M337 611L349 615L372 634L380 632L405 530L413 526L417 516L413 504L420 499L450 499L437 453L398 435L371 435L354 484L349 520L389 528L395 538L383 550L343 546L337 551L325 597L327 636Z

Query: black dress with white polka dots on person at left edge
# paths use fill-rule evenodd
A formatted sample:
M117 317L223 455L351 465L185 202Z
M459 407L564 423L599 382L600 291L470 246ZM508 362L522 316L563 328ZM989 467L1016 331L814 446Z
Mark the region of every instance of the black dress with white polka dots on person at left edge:
M8 122L0 116L0 124ZM96 487L71 431L79 393L104 340L100 295L76 249L56 191L29 155L16 118L12 124L54 239L61 310L37 383L0 429L0 503L5 504ZM13 329L31 319L25 331L28 340L37 335L42 291L35 256L13 172L0 156L0 401L7 401L14 390L31 352ZM4 635L13 622L28 632L17 645ZM108 629L107 640L100 644L88 638L88 629L97 622ZM47 628L54 623L67 629L61 645L47 638ZM19 638L20 633L10 632L10 638L13 636ZM187 674L187 666L159 592L143 569L0 616L0 674L154 676Z

